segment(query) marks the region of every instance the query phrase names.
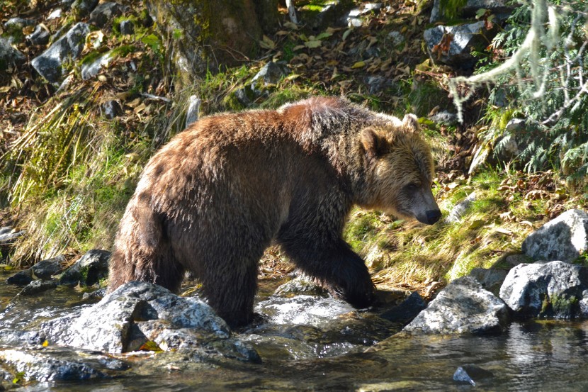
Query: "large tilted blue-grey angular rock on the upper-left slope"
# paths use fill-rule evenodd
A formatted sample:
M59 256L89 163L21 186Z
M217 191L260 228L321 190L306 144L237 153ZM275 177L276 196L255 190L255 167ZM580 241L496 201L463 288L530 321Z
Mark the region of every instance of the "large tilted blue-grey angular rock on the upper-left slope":
M83 22L76 23L65 35L55 41L45 52L35 57L30 64L47 81L57 83L62 77L64 62L77 58L84 49L90 27Z

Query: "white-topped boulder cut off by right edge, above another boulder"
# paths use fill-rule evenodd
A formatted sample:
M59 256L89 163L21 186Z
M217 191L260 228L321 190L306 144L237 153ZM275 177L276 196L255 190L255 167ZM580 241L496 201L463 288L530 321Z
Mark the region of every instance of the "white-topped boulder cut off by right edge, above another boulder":
M572 262L588 249L588 213L569 210L528 235L522 250L536 260Z

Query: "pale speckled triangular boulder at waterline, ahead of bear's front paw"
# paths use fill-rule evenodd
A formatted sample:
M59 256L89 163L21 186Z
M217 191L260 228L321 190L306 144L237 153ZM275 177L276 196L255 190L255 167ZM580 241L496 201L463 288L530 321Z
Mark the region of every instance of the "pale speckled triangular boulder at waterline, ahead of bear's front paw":
M482 288L471 276L452 281L429 306L405 327L412 333L502 332L509 310L499 298Z

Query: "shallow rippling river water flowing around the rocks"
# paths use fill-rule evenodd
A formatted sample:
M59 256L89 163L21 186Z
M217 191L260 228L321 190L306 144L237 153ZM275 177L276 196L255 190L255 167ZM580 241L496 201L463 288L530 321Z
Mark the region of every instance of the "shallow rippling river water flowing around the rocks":
M34 327L74 307L89 306L81 303L77 291L57 289L7 307L18 289L2 280L0 329ZM102 392L588 391L588 322L531 320L512 323L500 335L483 337L407 336L393 335L395 326L380 323L369 312L345 313L347 310L341 306L338 311L342 315L333 316L339 324L331 327L333 333L329 335L320 327L320 309L324 307L328 313L327 308L340 305L330 306L328 298L319 298L314 307L304 298L291 299L290 308L314 309L310 323L300 325L291 318L276 318L275 323L270 321L237 333L237 337L258 349L261 364L235 359L202 363L177 353L146 353L119 356L130 364L129 369L111 379L28 383L17 388ZM284 300L280 301L283 306ZM21 349L0 350L15 348ZM47 349L65 357L76 351ZM453 381L458 366L468 371L475 386Z

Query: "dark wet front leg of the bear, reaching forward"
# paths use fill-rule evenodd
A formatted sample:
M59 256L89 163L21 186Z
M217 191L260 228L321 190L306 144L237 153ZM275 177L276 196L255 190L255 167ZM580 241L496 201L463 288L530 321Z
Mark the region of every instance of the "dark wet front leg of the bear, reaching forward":
M296 267L317 279L332 296L355 308L366 308L375 299L375 286L363 259L342 239L326 244L282 240L283 250Z

